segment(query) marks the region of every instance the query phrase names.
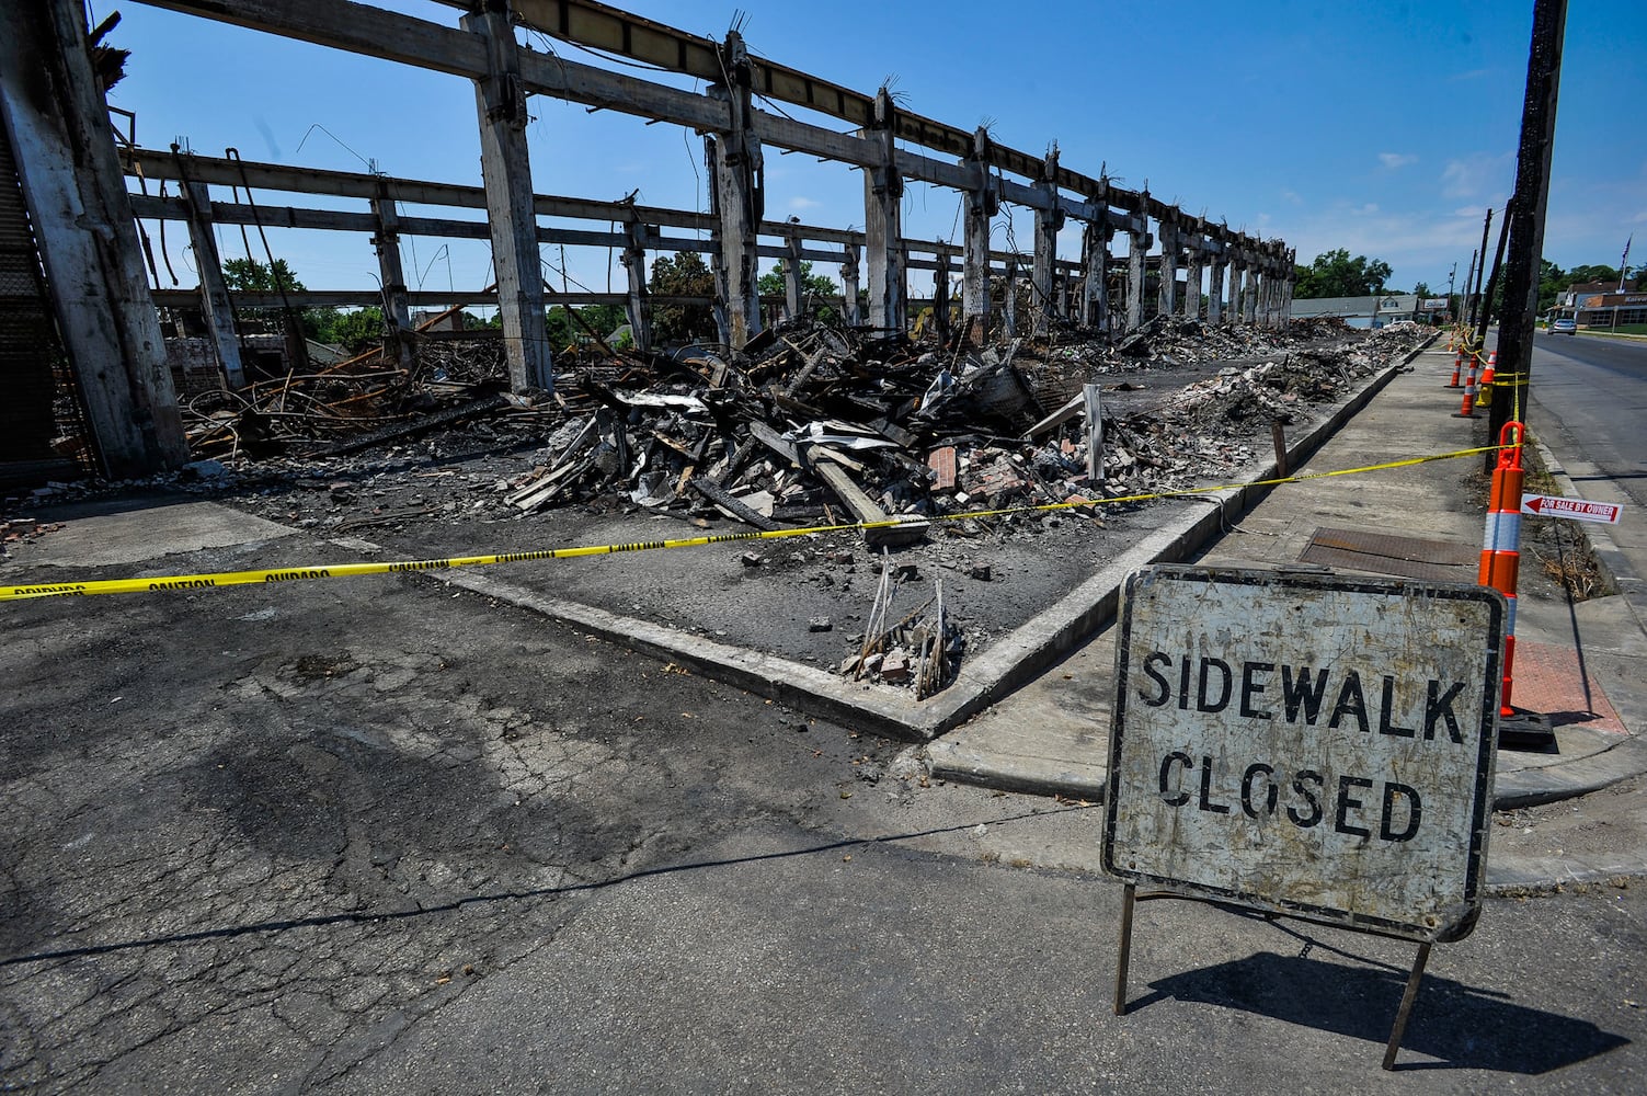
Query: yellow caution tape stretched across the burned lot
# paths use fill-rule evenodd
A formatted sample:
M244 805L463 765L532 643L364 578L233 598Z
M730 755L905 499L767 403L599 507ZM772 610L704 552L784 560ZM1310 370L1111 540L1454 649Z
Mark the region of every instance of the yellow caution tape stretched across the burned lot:
M324 567L273 567L268 570L219 570L201 575L160 575L155 578L92 578L86 582L48 582L40 585L0 587L0 602L21 602L28 598L86 597L92 593L153 593L165 590L216 590L217 587L270 585L280 582L313 582L318 578L351 578L354 575L389 575L395 572L418 570L451 570L453 567L486 567L491 564L522 564L544 559L576 559L580 555L618 555L619 552L652 552L659 549L703 547L707 544L733 544L738 541L777 541L782 537L804 537L820 532L851 532L860 529L898 529L903 526L929 524L932 521L968 521L975 518L1005 518L1008 514L1034 514L1057 509L1080 509L1089 506L1115 506L1123 503L1148 503L1155 499L1194 498L1197 494L1214 494L1217 491L1235 491L1247 486L1281 486L1286 483L1306 483L1309 480L1326 480L1329 476L1354 476L1387 468L1410 468L1426 465L1435 460L1453 460L1456 457L1474 457L1492 453L1505 445L1482 445L1463 448L1453 453L1436 453L1431 457L1410 457L1407 460L1390 460L1380 465L1364 465L1360 468L1339 468L1336 471L1313 471L1299 476L1278 476L1275 480L1255 480L1252 483L1224 483L1209 488L1184 488L1183 491L1155 491L1150 494L1125 494L1120 498L1077 499L1071 503L1043 503L1036 506L1011 506L1005 509L973 509L960 514L934 514L929 518L894 518L888 521L860 521L837 526L809 526L805 529L769 529L756 532L721 532L707 537L682 537L675 541L634 541L631 544L598 544L570 549L547 549L542 552L499 552L496 555L455 555L450 559L415 559L392 564L329 564Z

